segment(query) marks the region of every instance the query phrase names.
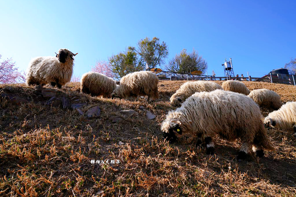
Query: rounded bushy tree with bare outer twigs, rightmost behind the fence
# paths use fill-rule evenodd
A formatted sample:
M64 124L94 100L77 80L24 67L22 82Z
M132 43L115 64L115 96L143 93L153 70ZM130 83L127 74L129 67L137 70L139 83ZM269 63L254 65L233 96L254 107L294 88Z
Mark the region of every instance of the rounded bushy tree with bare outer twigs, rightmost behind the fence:
M198 70L205 73L207 70L207 61L202 56L199 56L198 52L194 49L192 53L187 53L187 50L183 49L180 54L177 54L169 61L165 68L172 72L191 73Z

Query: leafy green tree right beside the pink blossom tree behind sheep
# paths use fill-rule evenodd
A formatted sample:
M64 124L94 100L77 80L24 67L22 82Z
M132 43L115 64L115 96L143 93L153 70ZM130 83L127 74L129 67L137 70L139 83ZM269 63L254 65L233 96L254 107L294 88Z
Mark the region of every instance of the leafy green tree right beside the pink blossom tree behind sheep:
M131 72L144 69L144 65L139 60L135 48L131 46L125 52L120 52L108 59L116 79L120 79Z

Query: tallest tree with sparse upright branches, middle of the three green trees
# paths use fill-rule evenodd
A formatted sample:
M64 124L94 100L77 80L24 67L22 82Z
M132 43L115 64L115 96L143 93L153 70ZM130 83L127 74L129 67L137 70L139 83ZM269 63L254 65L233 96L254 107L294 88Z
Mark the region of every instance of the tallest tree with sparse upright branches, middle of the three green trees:
M149 69L155 68L157 65L163 64L163 61L168 57L168 46L165 42L160 43L159 38L145 38L138 42L139 56L147 63Z

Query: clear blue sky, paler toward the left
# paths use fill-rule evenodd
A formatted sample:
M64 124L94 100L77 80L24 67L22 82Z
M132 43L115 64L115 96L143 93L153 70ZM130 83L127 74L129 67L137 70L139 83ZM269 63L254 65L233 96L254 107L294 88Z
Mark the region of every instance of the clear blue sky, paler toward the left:
M0 54L26 70L31 58L68 48L74 74L145 37L168 45L169 59L197 50L208 73L263 75L296 57L296 1L0 1Z

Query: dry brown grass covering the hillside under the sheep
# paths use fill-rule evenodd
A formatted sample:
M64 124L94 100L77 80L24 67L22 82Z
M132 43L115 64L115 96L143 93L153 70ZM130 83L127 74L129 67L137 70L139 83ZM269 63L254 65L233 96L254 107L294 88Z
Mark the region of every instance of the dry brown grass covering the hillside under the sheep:
M79 83L53 89L57 97L87 103L84 111L98 105L101 116L94 119L38 102L15 106L0 97L0 196L295 196L292 131L270 130L276 152L243 162L236 160L238 141L217 138L213 156L196 148L194 137L184 144L163 141L160 124L175 109L169 98L183 83L160 82L160 98L152 103L90 97L79 92ZM283 102L296 101L294 86L244 83L250 90L271 89ZM28 100L36 92L22 84L1 85L0 92L4 87ZM141 105L156 118L147 120ZM136 114L124 118L123 109ZM263 116L269 112L262 108ZM123 120L112 123L112 117Z

